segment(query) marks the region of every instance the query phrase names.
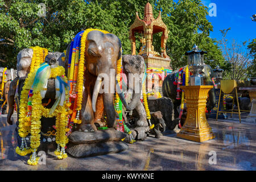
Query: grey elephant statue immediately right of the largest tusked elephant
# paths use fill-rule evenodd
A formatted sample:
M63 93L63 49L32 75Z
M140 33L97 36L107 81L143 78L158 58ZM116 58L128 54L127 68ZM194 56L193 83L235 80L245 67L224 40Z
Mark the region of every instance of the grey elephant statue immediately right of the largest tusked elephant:
M150 130L147 122L147 114L144 106L141 102L142 95L142 83L146 79L146 64L144 63L144 58L140 55L123 55L122 59L123 73L127 79L123 79L123 93L125 94L125 100L129 107L129 110L133 110L132 116L131 112L127 110L127 106L123 109L123 118L125 121L130 121L130 118L134 119L134 126L131 128L136 132L133 134L135 139L145 139L148 131Z

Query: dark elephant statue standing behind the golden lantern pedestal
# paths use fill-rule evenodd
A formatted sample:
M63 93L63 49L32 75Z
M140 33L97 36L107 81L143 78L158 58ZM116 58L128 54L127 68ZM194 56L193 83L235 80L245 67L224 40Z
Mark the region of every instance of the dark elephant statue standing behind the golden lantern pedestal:
M176 100L177 96L177 85L174 84L175 82L175 76L179 72L179 69L176 71L170 73L166 78L164 78L163 81L163 96L169 97L172 99L172 102L174 104L174 116L175 118L179 117L179 106L181 104L181 100ZM213 85L212 77L213 77L213 70L208 64L204 64L203 71L201 75L204 77L204 85ZM207 118L209 117L210 110L213 109L215 106L216 98L214 94L214 89L210 89L208 93L208 101L207 101Z

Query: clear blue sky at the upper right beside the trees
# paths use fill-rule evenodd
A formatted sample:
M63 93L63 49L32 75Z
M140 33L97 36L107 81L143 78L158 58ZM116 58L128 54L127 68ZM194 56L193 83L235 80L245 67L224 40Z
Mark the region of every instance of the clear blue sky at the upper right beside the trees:
M228 40L235 39L238 43L256 38L256 22L251 16L256 14L256 0L202 0L205 6L215 3L217 16L208 16L213 25L211 38L221 39L220 30L231 28L228 32ZM210 8L209 8L210 9Z

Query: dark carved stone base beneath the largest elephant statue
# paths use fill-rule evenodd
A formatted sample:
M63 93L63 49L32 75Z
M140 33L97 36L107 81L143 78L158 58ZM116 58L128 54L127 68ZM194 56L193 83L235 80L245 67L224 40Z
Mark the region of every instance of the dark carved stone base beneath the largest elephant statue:
M105 155L124 151L128 148L121 139L126 134L115 129L99 130L90 133L74 131L68 136L68 154L75 158Z

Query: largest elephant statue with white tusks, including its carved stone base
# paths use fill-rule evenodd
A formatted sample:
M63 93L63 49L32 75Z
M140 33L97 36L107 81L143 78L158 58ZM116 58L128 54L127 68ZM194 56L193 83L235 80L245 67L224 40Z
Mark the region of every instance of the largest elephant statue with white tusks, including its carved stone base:
M85 47L80 46L80 52L84 52L86 60L83 72L85 81L82 91L77 93L82 92L81 110L76 115L81 123L77 123L68 135L67 152L75 158L83 158L126 150L128 146L122 141L126 134L115 130L118 129L117 118L120 117L114 107L115 93L118 93L122 104L129 109L122 90L116 85L122 57L121 41L116 35L100 30L79 32L66 50L64 65L69 74L72 71L72 51L77 48L73 45L79 39L77 36L82 36L81 45Z

